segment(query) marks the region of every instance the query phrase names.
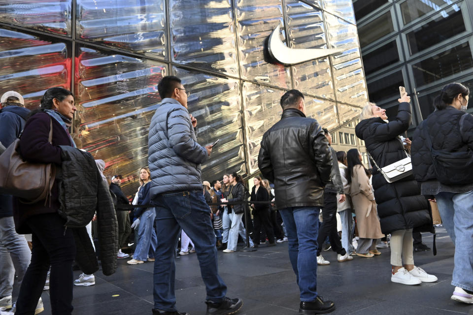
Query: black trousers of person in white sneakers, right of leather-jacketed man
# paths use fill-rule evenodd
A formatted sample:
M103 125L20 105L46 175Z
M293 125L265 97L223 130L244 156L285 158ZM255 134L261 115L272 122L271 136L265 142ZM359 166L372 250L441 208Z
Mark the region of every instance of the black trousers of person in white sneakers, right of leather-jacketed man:
M346 253L341 246L340 237L337 232L337 194L332 192L324 193L324 207L322 208L323 222L319 228L319 235L317 236L317 256L322 251L322 244L328 236L332 250L340 255Z

